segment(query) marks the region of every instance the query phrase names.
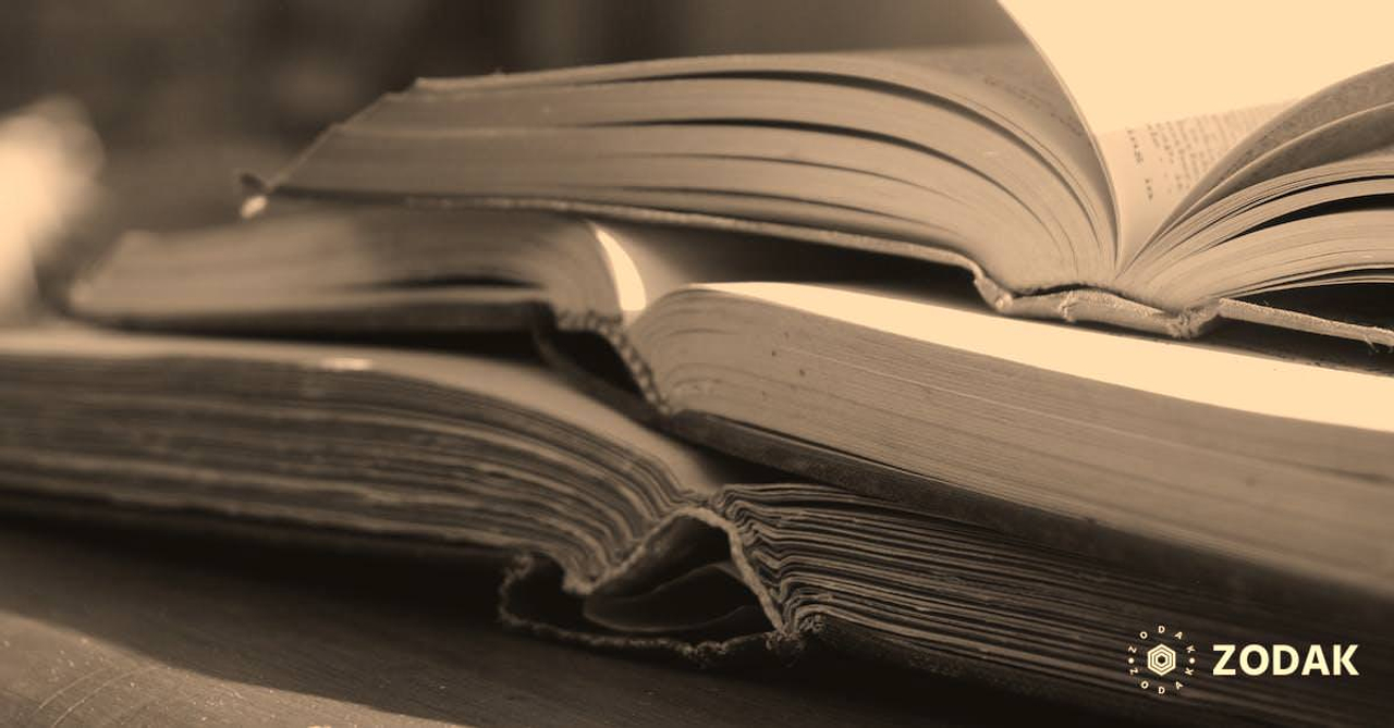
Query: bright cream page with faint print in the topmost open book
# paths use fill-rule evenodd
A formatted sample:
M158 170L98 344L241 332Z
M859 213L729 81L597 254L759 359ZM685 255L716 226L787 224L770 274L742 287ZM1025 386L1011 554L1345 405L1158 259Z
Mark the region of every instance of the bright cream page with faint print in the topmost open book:
M1277 111L1394 60L1394 3L1001 3L1094 136L1122 259Z

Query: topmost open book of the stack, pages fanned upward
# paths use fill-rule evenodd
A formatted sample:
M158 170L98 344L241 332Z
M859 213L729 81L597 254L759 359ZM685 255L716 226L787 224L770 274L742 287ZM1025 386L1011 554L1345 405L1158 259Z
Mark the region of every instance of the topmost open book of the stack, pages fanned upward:
M1065 32L1075 14L1011 6L1037 47L421 81L330 128L268 195L765 232L960 266L1008 313L1175 335L1228 317L1394 344L1379 306L1394 280L1394 65L1376 63L1394 57L1351 50L1369 33L1320 53L1263 45L1289 40L1266 36L1266 18L1359 17L1264 6L1216 58L1299 56L1308 72L1217 89L1236 61L1206 72L1174 58L1177 38L1107 42L1118 31L1096 24L1085 43ZM1224 19L1210 15L1190 21ZM1157 58L1181 71L1143 74Z

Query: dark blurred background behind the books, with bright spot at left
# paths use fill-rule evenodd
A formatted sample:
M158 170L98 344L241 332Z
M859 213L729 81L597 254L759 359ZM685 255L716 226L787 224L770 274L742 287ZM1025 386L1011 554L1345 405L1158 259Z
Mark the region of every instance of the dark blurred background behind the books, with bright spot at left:
M233 220L238 173L418 77L1013 35L986 0L6 0L0 310L31 259L52 290L121 231Z

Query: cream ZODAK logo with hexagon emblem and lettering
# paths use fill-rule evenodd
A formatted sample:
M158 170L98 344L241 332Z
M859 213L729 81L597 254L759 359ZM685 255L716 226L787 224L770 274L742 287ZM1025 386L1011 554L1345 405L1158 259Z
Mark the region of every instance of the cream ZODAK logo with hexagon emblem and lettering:
M1210 674L1232 676L1341 676L1359 675L1355 650L1359 644L1211 644L1216 654ZM1181 629L1157 625L1138 632L1128 646L1128 675L1143 690L1156 695L1179 693L1196 674L1196 646ZM1184 679L1185 678L1185 679Z

